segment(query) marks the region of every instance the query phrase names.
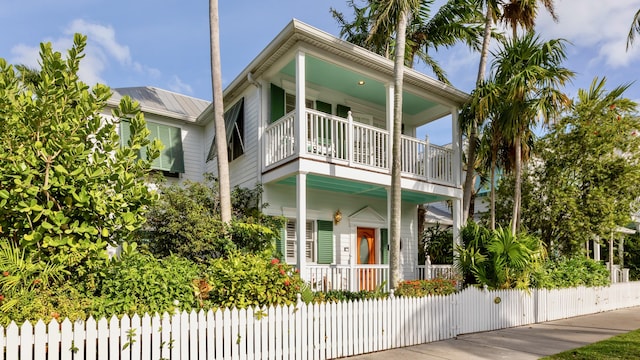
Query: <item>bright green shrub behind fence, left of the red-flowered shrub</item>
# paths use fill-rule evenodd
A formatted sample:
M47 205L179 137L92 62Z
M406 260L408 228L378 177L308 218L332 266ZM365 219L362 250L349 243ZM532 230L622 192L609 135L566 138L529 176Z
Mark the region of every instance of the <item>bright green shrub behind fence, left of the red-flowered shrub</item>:
M195 263L178 256L125 252L105 269L94 316L189 310L197 304L192 283L199 274Z

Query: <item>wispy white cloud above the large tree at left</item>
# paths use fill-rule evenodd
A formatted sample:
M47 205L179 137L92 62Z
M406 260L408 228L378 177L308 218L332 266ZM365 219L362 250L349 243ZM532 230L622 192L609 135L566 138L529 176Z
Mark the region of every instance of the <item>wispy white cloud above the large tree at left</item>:
M82 81L89 85L96 83L106 84L102 74L107 69L112 68L114 62L123 67L125 71L135 71L143 76L160 78L162 75L160 70L134 61L129 47L118 42L116 31L111 26L76 19L64 30L64 36L45 41L51 42L54 50L66 52L73 45L74 33L81 33L87 36L85 57L80 66L79 76ZM15 64L38 67L39 51L39 46L16 45L11 49L11 61Z

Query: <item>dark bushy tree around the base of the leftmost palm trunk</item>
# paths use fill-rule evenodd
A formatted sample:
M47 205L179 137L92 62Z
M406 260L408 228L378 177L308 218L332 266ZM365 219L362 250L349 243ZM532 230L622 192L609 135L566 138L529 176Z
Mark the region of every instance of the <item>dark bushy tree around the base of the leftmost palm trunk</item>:
M218 182L160 185L160 198L148 213L143 243L156 256L176 254L198 263L226 257L234 250L259 253L274 249L284 220L262 213L262 187L236 187L231 193L232 220L220 216Z

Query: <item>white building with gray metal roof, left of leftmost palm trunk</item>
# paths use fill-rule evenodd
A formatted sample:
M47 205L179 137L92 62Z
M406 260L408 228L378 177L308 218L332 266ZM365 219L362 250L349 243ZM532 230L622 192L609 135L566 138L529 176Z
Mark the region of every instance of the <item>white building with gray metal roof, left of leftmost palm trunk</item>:
M128 95L140 103L147 128L152 138L159 138L164 149L151 167L161 172L169 181L189 179L202 181L205 168L206 147L204 124L198 116L209 105L209 101L173 93L154 87L130 87L111 89L113 95L105 111L111 110ZM128 123L123 122L118 132L123 142L129 137ZM207 144L208 146L208 144Z

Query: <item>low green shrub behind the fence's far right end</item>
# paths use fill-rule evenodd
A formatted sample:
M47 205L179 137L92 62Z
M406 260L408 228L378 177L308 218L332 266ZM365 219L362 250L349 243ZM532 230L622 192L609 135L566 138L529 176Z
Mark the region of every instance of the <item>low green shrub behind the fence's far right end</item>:
M545 289L576 286L607 286L609 271L585 256L548 260L535 274L535 287Z

